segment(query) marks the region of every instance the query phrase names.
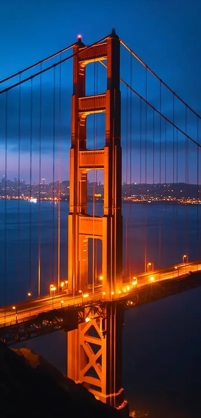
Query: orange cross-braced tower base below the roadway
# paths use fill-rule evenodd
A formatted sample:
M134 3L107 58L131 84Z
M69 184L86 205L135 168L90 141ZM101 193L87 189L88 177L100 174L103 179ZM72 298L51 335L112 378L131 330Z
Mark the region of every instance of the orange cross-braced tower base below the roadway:
M124 306L108 303L102 317L93 313L67 333L67 376L84 385L96 399L120 408Z

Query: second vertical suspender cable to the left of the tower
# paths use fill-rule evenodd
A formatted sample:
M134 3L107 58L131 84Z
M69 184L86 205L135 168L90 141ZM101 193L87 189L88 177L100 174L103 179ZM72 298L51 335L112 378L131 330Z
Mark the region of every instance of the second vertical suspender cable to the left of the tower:
M52 161L52 282L54 283L54 220L55 220L55 67L53 73L53 161ZM59 292L59 289L58 289Z

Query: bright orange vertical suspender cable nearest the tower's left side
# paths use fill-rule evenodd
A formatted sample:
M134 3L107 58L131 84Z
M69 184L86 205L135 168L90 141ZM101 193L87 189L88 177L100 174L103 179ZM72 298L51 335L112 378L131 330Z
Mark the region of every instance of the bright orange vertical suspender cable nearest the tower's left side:
M61 54L60 54L61 61ZM61 183L61 64L59 66L59 138L58 138L58 273L57 286L60 288L60 183Z

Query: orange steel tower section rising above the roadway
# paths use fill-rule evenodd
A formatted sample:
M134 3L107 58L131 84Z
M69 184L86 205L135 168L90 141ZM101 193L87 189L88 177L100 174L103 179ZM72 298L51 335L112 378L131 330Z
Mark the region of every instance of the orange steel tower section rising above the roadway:
M79 53L78 53L79 52ZM122 150L120 40L115 30L105 41L86 47L81 38L73 48L73 95L68 216L68 287L88 287L88 239L102 240L102 291L106 297L122 289ZM107 59L107 90L85 96L85 67ZM86 118L105 112L105 146L88 150ZM87 172L104 171L103 216L87 213Z

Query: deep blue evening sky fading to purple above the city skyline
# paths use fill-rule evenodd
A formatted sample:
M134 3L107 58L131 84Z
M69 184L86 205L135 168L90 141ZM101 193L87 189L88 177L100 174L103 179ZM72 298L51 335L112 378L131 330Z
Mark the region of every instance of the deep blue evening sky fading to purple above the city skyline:
M173 91L201 114L201 3L199 0L193 2L190 0L99 0L98 2L87 0L85 3L80 0L76 2L0 0L0 9L0 80L72 44L76 41L78 33L82 34L82 40L87 45L108 35L112 27L115 27L120 38ZM63 54L62 58L67 55L68 53ZM48 64L58 59L49 61ZM121 77L132 84L132 87L145 98L146 70L132 59L131 72L130 62L129 53L121 48ZM45 65L47 64L42 68L45 68ZM86 94L104 92L105 69L100 63L95 66L90 64L89 67L86 72ZM53 165L54 178L55 180L58 178L59 71L57 67L55 72L50 70L42 76L41 177L45 177L48 182L53 178ZM94 71L95 82L92 80ZM33 72L28 73L30 74ZM16 77L11 82L1 84L0 90L18 80L19 77ZM38 77L32 81L32 99L30 87L30 82L26 82L20 91L20 131L19 89L14 88L7 94L7 178L18 177L18 139L20 138L20 178L27 182L30 177L30 143L31 178L32 181L39 179L40 80ZM71 94L72 61L68 61L62 64L61 69L62 180L69 178ZM195 183L197 147L188 141L187 159L186 138L182 134L177 134L177 130L173 130L170 124L165 124L164 120L160 123L160 118L156 114L153 124L153 110L144 103L141 106L140 100L133 93L131 95L130 91L127 92L123 85L121 85L121 94L122 179L129 182L130 180L159 182L161 179L165 182L185 181L188 178L189 182ZM150 74L147 74L147 99L154 107L160 109L160 83ZM3 93L0 95L0 177L5 171L5 103L6 95ZM185 131L185 107L177 100L174 106L175 123ZM31 113L30 109L32 109ZM161 110L173 121L173 97L163 87ZM200 122L199 131L201 132ZM200 132L198 133L197 130L197 118L188 111L188 135L200 141ZM88 117L87 139L90 149L96 145L96 140L99 147L104 145L104 115L98 115L96 118ZM140 153L142 153L142 163L140 163ZM189 165L189 175L186 165Z

